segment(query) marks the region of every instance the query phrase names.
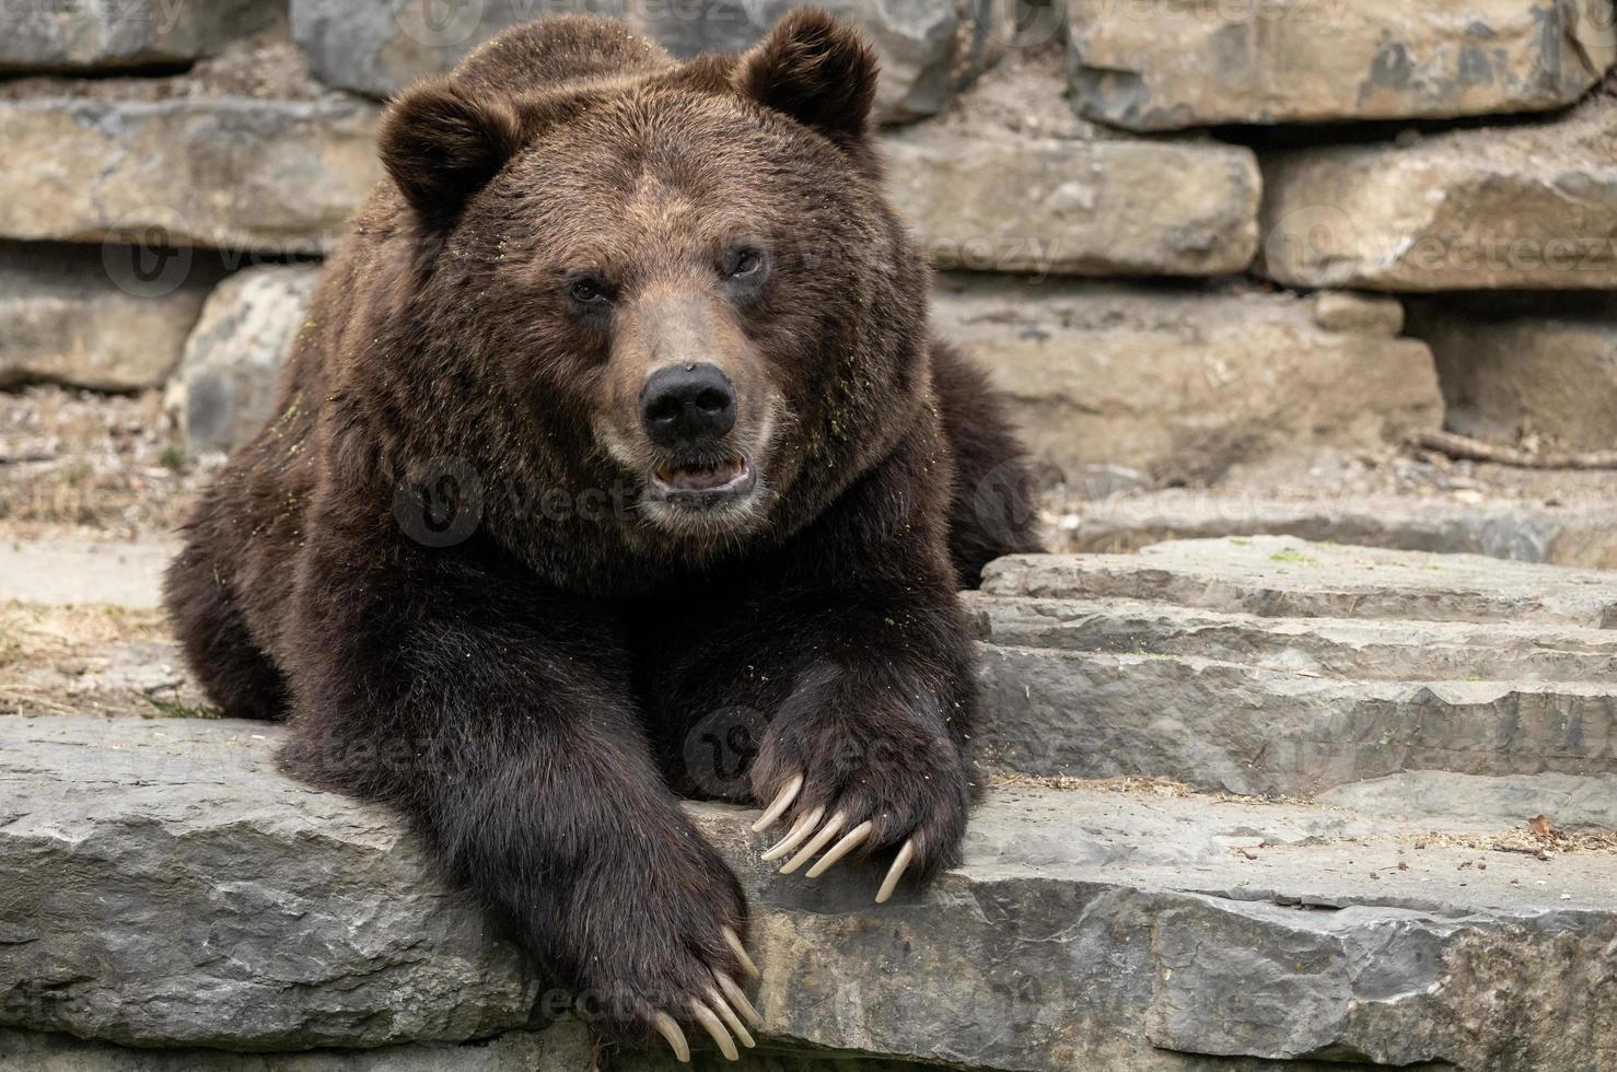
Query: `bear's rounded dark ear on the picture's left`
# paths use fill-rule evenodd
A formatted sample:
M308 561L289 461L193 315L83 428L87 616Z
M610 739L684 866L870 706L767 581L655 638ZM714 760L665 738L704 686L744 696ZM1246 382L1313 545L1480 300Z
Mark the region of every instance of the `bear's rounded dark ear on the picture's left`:
M382 123L388 175L429 226L448 226L527 139L517 105L450 78L399 95Z

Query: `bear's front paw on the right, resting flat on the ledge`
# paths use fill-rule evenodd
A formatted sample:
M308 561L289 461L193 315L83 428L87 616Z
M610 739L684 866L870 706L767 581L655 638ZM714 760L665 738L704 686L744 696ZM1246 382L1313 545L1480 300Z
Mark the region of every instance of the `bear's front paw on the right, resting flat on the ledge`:
M910 868L930 876L960 859L970 789L960 750L935 718L910 711L851 718L783 718L770 726L752 770L754 794L770 800L754 825L791 828L765 860L818 878L842 857L897 849L876 904Z

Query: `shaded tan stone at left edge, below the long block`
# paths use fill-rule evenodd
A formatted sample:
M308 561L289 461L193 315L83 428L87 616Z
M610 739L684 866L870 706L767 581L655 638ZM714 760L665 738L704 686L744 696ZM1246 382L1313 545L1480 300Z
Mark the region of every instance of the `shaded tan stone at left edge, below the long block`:
M137 255L0 243L0 388L34 380L110 391L160 385L220 270L196 265L171 283L147 281L123 272Z

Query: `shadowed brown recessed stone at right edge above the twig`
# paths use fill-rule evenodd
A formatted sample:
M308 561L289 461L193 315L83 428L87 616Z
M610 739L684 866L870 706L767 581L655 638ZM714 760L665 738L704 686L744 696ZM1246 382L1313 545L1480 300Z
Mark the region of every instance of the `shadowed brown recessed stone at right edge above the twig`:
M1617 448L1617 296L1420 302L1410 331L1438 361L1450 432Z

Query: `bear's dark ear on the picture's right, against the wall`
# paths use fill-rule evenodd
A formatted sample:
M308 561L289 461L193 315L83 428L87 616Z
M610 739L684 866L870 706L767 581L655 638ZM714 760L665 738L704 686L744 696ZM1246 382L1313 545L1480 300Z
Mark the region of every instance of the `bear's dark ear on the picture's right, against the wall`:
M876 53L859 31L825 11L786 15L741 57L733 84L839 146L865 137L876 99Z

